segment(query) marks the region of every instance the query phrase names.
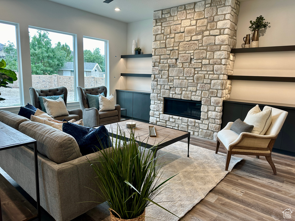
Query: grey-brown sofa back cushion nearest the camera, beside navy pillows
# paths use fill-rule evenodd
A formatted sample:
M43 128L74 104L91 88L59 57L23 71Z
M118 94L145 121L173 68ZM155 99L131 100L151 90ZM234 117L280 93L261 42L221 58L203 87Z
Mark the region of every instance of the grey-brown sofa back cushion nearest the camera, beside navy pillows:
M19 131L37 140L37 150L40 154L57 164L82 156L76 140L71 135L48 125L27 121L19 125Z

